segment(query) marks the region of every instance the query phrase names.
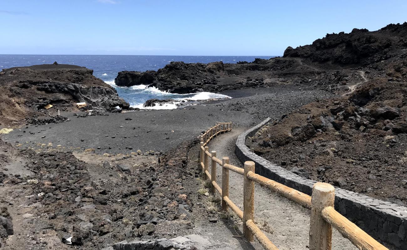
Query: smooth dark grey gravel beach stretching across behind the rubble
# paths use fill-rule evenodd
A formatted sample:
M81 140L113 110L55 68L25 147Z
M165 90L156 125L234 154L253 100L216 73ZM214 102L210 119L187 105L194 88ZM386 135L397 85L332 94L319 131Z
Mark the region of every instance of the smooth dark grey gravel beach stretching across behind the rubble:
M108 116L78 118L61 113L70 121L16 129L3 139L9 143L53 143L66 148L94 148L96 153L166 151L186 139L197 137L216 122L249 127L268 116L281 117L298 107L333 96L326 91L293 85L228 91L237 96L183 109L110 113ZM242 97L245 96L245 97Z

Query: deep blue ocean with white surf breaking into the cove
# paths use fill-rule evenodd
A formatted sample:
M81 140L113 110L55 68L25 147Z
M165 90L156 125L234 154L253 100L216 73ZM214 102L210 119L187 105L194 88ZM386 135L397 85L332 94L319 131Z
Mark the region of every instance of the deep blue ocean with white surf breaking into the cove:
M238 61L254 61L255 58L269 59L273 56L122 56L122 55L0 55L0 69L30 66L37 64L50 64L57 61L61 64L84 66L93 70L93 75L101 78L105 83L112 85L118 95L129 102L131 107L142 108L142 104L152 98L175 100L206 100L209 98L227 98L219 93L190 93L173 94L160 91L144 85L131 87L118 87L114 84L117 73L123 70L146 71L158 70L171 61L184 61L185 63L210 63L223 61L223 63L236 63ZM175 104L155 106L155 109L174 109Z

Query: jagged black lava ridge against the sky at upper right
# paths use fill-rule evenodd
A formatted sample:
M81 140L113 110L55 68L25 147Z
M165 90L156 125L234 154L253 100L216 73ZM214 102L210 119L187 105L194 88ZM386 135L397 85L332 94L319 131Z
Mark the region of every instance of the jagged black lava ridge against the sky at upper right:
M407 23L389 24L376 31L354 28L351 33L326 34L311 45L288 47L284 57L300 57L313 62L331 61L340 65L368 65L388 59L407 48ZM396 52L397 53L397 52Z

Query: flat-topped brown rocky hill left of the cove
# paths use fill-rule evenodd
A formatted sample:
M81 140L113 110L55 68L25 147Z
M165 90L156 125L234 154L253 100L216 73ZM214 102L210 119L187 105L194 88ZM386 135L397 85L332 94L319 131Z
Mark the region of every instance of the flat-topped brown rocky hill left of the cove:
M51 104L61 110L75 103L106 111L129 108L116 90L93 76L93 70L76 65L51 64L13 67L0 72L0 125L18 125Z

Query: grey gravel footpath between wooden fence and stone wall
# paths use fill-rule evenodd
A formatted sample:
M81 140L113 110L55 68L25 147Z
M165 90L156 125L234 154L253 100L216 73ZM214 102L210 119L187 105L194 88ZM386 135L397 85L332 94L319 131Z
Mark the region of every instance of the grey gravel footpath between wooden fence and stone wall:
M209 144L209 150L217 151L217 158L227 156L230 164L243 167L234 154L235 142L244 129L233 129L232 132L218 135ZM209 167L210 169L210 167ZM229 197L243 210L243 176L229 171ZM222 171L217 167L217 183L221 185ZM278 249L304 250L309 245L310 211L290 200L256 184L255 187L255 221ZM241 227L241 224L239 225ZM224 236L225 238L228 236ZM253 249L263 249L256 241ZM357 249L348 239L333 228L333 249ZM247 249L247 248L243 248Z

